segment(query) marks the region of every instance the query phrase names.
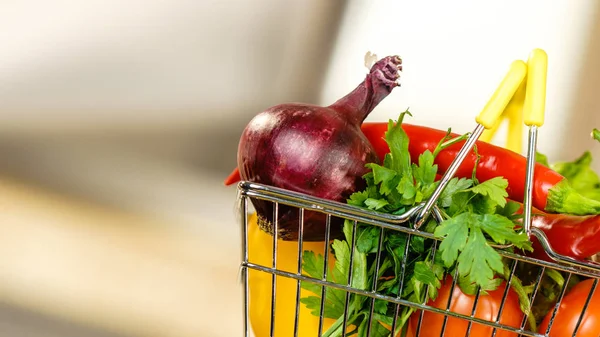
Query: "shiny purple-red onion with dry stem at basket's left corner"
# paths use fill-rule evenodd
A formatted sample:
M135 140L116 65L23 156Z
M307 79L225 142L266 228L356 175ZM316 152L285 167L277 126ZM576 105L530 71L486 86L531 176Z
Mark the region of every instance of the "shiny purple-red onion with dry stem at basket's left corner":
M371 67L365 80L328 107L287 103L256 115L238 146L240 177L290 191L345 202L366 187L367 163L378 163L360 126L369 113L398 86L402 60L388 56ZM251 199L259 227L273 234L274 204ZM277 235L297 240L299 209L279 204ZM325 239L326 215L304 211L303 240ZM331 238L341 233L343 219L331 218Z

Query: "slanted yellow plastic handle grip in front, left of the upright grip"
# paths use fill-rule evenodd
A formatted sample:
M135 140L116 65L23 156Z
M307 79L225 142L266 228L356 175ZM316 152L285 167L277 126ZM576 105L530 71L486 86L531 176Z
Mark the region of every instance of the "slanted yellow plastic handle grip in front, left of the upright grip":
M508 102L510 102L521 85L521 82L525 79L525 75L527 75L527 65L525 62L521 60L514 61L490 100L483 107L477 118L475 118L475 121L483 125L486 129L493 128L500 115L502 115L502 112L504 112Z

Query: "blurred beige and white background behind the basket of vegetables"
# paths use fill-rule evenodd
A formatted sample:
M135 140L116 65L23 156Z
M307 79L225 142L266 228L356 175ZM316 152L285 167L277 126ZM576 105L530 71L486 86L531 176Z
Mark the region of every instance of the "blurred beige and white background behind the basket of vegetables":
M1 1L0 335L241 335L239 134L344 95L366 51L405 64L369 120L464 132L544 48L540 150L600 158L598 36L594 0Z

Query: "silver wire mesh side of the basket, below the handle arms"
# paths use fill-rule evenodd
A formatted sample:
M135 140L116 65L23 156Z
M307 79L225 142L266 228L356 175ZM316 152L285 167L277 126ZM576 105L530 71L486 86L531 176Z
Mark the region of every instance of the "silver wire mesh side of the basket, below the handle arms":
M327 295L329 293L336 293L336 294L340 294L343 293L343 302L344 302L344 306L343 306L343 316L342 316L342 321L341 323L341 329L342 329L342 334L341 335L345 335L345 333L349 333L351 331L353 331L354 329L356 329L356 327L349 327L348 323L350 320L350 317L348 317L348 312L350 309L350 299L351 298L358 298L358 296L364 297L365 300L367 301L369 304L369 315L368 315L368 321L366 323L367 326L367 330L366 330L366 335L367 336L371 336L372 334L374 335L374 332L372 331L372 326L374 326L372 324L373 322L373 317L376 316L376 311L375 311L375 304L376 302L381 304L381 303L385 303L388 308L392 308L391 310L394 311L394 319L392 322L388 322L390 323L387 327L392 330L395 331L397 330L397 327L401 324L401 323L405 323L405 322L399 322L398 317L396 316L397 313L402 310L403 308L413 308L415 310L415 313L413 314L414 316L412 317L417 317L417 319L414 319L415 321L417 321L416 326L412 327L414 332L416 333L415 336L419 336L419 333L422 333L422 326L423 326L423 322L424 319L426 320L428 317L431 317L431 315L437 314L440 317L443 316L443 325L441 327L441 333L439 335L449 335L448 332L446 331L446 328L449 324L455 324L453 322L456 321L460 321L463 324L466 325L466 333L464 335L469 336L469 335L475 335L474 333L477 333L476 331L480 331L482 329L482 327L488 327L491 332L490 335L496 335L496 336L501 336L506 333L512 333L512 335L517 336L517 335L522 335L522 336L544 336L544 334L542 333L538 333L536 331L531 331L528 327L527 324L527 316L523 316L522 319L519 320L518 324L504 324L505 322L503 321L504 315L503 315L503 311L505 310L505 303L507 302L507 298L509 297L509 288L512 285L511 282L515 282L515 278L514 275L515 273L518 273L520 268L522 267L528 267L531 271L531 280L530 283L533 286L533 289L531 291L530 294L530 301L531 303L533 303L534 301L536 301L536 299L541 298L541 295L539 294L540 292L540 284L543 284L545 278L549 277L548 276L548 272L549 271L554 271L554 272L558 272L558 273L562 273L562 275L565 278L565 282L562 286L562 289L560 289L559 291L559 297L556 299L556 303L551 306L551 308L549 308L549 311L553 312L554 314L556 313L557 309L560 306L561 300L564 297L565 293L567 292L567 287L570 284L570 281L574 278L581 278L581 277L585 277L585 278L592 278L594 280L593 282L593 288L590 291L587 299L586 299L586 305L581 313L580 319L577 323L577 327L575 328L575 333L577 331L577 328L579 327L579 325L581 324L582 318L585 315L585 312L587 310L588 304L590 303L592 297L595 294L595 288L597 285L597 281L598 281L598 271L597 270L590 270L590 269L582 269L582 268L577 268L574 267L572 265L564 265L564 264L558 264L558 263L553 263L553 262L547 262L547 261L541 261L541 260L537 260L537 259L533 259L533 258L529 258L527 256L522 256L519 254L515 254L509 251L504 251L504 250L499 250L498 252L500 253L500 255L507 259L509 262L509 270L507 271L505 277L506 277L506 284L507 286L504 288L504 291L502 291L502 299L501 299L501 304L500 304L500 308L498 310L498 313L494 316L494 319L490 319L490 320L486 320L486 319L481 319L478 318L476 315L476 311L477 311L477 306L480 303L480 299L482 298L482 294L480 290L476 291L475 297L474 297L474 303L473 303L473 307L470 308L470 310L468 312L456 312L452 309L452 303L449 300L448 303L446 304L445 307L434 307L432 306L430 303L416 303L416 302L411 302L408 301L404 298L402 298L402 296L388 296L388 295L384 295L381 294L380 292L377 291L378 289L378 282L380 282L381 280L377 277L374 277L372 280L372 283L369 284L368 286L364 286L364 287L357 287L356 284L352 283L353 280L353 275L352 272L354 270L354 267L349 268L349 273L347 276L347 278L345 278L343 281L344 282L340 282L340 280L337 281L333 281L330 277L330 273L331 271L327 268L331 261L329 261L329 259L331 259L330 254L329 254L329 245L327 243L331 242L331 240L333 239L332 237L329 236L330 232L331 232L331 219L333 217L336 218L343 218L346 221L348 221L349 224L351 224L352 227L352 232L351 232L351 239L349 240L350 245L352 247L349 247L349 263L351 266L354 266L355 264L355 256L354 256L354 252L356 251L356 245L357 245L357 238L355 233L356 228L358 226L372 226L373 228L378 229L377 235L379 235L379 240L378 240L378 247L376 247L376 254L375 254L375 259L376 259L376 263L375 263L375 275L378 275L378 271L379 271L379 267L381 264L380 261L380 257L381 257L381 252L382 252L382 242L383 242L383 237L384 235L387 235L386 233L397 233L398 235L403 235L406 237L407 240L407 244L405 245L405 254L403 255L404 260L401 263L402 266L402 270L400 272L400 277L399 277L399 289L398 289L398 294L402 294L403 289L406 287L406 284L404 284L404 280L405 280L405 272L406 272L406 267L408 265L408 261L406 260L406 258L408 257L408 249L410 247L410 243L412 242L412 240L414 240L415 238L418 238L418 240L420 241L427 241L429 242L429 244L431 244L431 249L435 251L435 249L437 249L439 241L433 237L433 235L431 233L425 232L425 231L421 231L421 230L416 230L416 229L412 229L409 226L400 226L398 224L394 224L391 223L389 221L389 219L385 219L386 215L382 215L382 214L373 214L373 212L367 211L367 210L363 210L357 207L353 207L350 205L345 205L345 204L340 204L340 203L335 203L335 202L330 202L330 201L326 201L326 200L321 200L321 199L317 199L317 198L313 198L310 196L305 196L299 193L293 193L293 192L289 192L289 191L281 191L278 189L272 189L269 187L265 187L265 186L260 186L257 184L248 184L248 183L242 183L240 184L239 187L239 191L240 191L240 195L239 195L239 200L240 200L240 222L242 225L242 231L243 231L243 247L242 247L242 273L243 273L243 282L244 282L244 303L245 303L245 308L244 308L244 330L245 330L245 335L246 336L250 336L250 330L251 330L251 319L250 319L250 313L252 310L252 303L250 300L251 297L251 284L249 282L249 271L255 272L255 273L260 273L263 275L266 275L270 278L270 284L268 285L270 288L270 292L268 294L268 297L270 297L268 299L267 302L268 306L270 308L270 312L269 315L266 315L267 317L263 317L264 320L268 319L268 328L265 329L267 331L266 335L269 336L278 336L275 332L278 329L277 324L282 324L281 322L284 322L286 320L282 320L281 317L277 316L276 317L276 304L279 303L277 296L281 296L280 293L278 293L278 280L293 280L295 282L295 289L293 291L293 293L288 293L285 294L285 301L293 303L293 307L294 310L291 312L288 312L287 314L289 314L290 317L288 317L287 323L290 324L290 326L288 327L288 331L290 332L289 335L294 335L294 336L306 336L306 334L302 334L301 331L301 327L302 327L302 322L301 322L301 318L300 318L300 311L303 310L303 308L305 307L304 303L300 302L300 295L301 292L303 290L303 285L305 285L307 288L311 288L311 289L319 289L319 291L317 291L316 294L314 294L316 297L319 298L320 303L318 306L318 316L315 316L315 318L317 318L318 320L318 325L316 325L316 331L322 333L324 332L324 330L326 330L326 324L324 323L327 320L326 314L327 312L325 311L325 303L327 301ZM299 235L299 238L297 241L294 241L293 244L294 246L296 246L296 256L295 257L300 257L303 255L303 253L305 252L304 246L308 245L308 244L313 244L313 243L307 243L303 241L303 214L306 211L311 211L311 212L322 212L323 214L326 215L326 235L327 237L325 238L324 242L321 243L323 244L323 268L322 268L322 273L320 275L318 275L318 277L315 277L316 275L307 275L306 272L304 272L303 270L303 259L299 258L296 262L294 266L288 266L287 268L283 267L278 264L278 249L280 249L280 246L283 247L282 245L287 245L289 242L285 242L285 241L281 241L279 240L279 238L277 237L277 235L273 235L269 238L269 240L271 240L270 246L268 247L271 256L270 259L267 260L263 260L263 261L253 261L250 258L250 250L252 249L252 247L249 247L249 242L248 242L248 231L249 228L251 228L251 223L249 222L249 201L251 198L256 198L256 199L261 199L264 201L268 201L268 202L272 202L274 205L274 212L277 212L279 209L280 205L286 205L286 206L292 206L292 207L298 207L298 209L300 210L300 217L299 217L299 221L298 221L298 231L301 235ZM277 214L274 214L274 219L277 219ZM406 220L395 220L397 223L403 223ZM277 229L277 222L275 222L274 224L275 229ZM274 231L275 233L277 233L277 231ZM532 267L533 266L533 267ZM454 275L455 277L452 278L452 285L451 285L451 293L454 291L455 287L458 287L457 282L456 282L456 275ZM312 286L310 286L312 285ZM264 292L261 293L261 296L265 296L266 294ZM265 302L265 298L261 298L261 301ZM380 306L381 307L381 306ZM452 309L452 310L451 310ZM554 316L554 314L552 316ZM313 320L314 322L314 320ZM450 322L450 323L448 323ZM351 322L350 322L351 323ZM552 322L550 322L551 324L549 325L549 329L552 326ZM252 322L252 324L256 325L256 322ZM425 324L427 324L427 322L425 322ZM479 329L479 330L477 330ZM575 333L573 334L573 336L575 336ZM320 334L316 334L319 335ZM479 336L480 334L477 334L477 336ZM258 336L257 337L262 337L262 336Z

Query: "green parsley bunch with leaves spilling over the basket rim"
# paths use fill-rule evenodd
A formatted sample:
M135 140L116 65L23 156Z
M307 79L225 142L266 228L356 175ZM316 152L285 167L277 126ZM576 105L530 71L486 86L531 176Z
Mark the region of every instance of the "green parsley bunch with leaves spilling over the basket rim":
M397 123L389 121L385 140L390 153L386 154L382 165L367 165L370 169L364 175L367 187L353 193L347 200L348 204L378 212L402 214L431 197L438 186L435 181L438 173L436 155L445 146L455 144L466 136L450 140L445 137L433 153L425 151L416 163L411 163L409 139L401 127L407 114L412 116L407 110L400 114ZM475 293L476 289L484 293L496 289L503 279L506 263L490 244L512 244L517 248L531 249L528 236L515 232L519 220L515 216L518 204L507 202L507 187L507 180L501 177L481 183L473 179L452 178L437 203L446 219L440 224L430 220L421 228L441 240L437 250L433 249L434 239L409 237L398 231L363 223L354 225L346 220L343 228L345 240L334 240L332 244L336 263L331 282L346 285L352 269L352 287L373 290L371 288L376 281L374 290L378 294L400 296L416 303L434 299L441 287L441 280L455 270L458 271L459 286L467 293ZM356 233L353 233L354 228ZM356 238L356 246L351 252L353 237ZM383 240L380 242L381 237ZM380 262L376 266L379 251ZM305 272L320 278L322 257L306 254ZM352 263L350 255L353 256ZM376 275L375 270L378 270ZM321 286L308 283L303 282L302 285L315 296L302 299L302 303L313 314L318 314ZM345 292L328 288L326 296L326 317L336 319L336 322L324 336L340 336ZM357 327L351 333L365 336L372 302L353 293L349 299L347 321ZM394 335L406 326L413 311L401 307ZM372 336L390 335L390 331L380 323L391 325L394 312L395 306L391 303L381 300L374 302Z

